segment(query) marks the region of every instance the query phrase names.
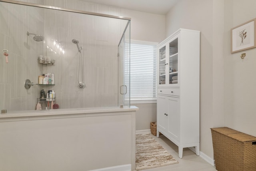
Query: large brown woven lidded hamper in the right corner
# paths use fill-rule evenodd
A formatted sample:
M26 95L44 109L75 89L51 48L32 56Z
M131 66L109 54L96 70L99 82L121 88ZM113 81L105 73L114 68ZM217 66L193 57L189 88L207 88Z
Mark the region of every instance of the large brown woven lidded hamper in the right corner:
M256 171L256 137L228 127L211 132L216 170Z

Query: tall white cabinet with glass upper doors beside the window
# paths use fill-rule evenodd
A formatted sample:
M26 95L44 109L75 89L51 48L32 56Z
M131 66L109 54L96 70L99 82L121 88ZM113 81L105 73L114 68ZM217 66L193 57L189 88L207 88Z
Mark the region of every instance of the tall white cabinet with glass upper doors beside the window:
M200 147L200 32L179 29L158 46L157 137Z

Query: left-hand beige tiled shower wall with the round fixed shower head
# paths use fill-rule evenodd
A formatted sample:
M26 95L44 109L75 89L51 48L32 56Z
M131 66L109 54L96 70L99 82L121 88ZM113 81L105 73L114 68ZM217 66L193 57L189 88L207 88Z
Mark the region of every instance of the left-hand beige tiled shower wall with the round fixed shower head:
M38 1L39 2L39 1ZM24 81L37 83L40 66L37 56L43 42L35 42L26 32L43 34L40 9L0 2L0 51L8 50L9 63L0 58L0 109L10 111L32 110L36 107L39 88L24 88Z

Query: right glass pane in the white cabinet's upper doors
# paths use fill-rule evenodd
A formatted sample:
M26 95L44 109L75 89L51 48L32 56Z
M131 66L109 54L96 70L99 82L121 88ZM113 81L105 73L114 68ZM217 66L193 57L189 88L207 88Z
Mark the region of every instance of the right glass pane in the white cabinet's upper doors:
M169 84L178 84L178 38L169 44Z

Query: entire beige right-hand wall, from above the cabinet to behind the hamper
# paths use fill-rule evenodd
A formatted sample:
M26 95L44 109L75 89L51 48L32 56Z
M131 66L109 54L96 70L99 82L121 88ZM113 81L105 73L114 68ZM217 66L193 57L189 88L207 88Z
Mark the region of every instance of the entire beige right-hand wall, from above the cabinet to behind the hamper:
M244 60L242 52L230 54L230 28L255 18L255 4L254 0L181 0L166 15L166 36L178 28L201 31L200 151L212 159L211 127L256 135L256 50L245 51Z

